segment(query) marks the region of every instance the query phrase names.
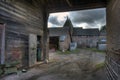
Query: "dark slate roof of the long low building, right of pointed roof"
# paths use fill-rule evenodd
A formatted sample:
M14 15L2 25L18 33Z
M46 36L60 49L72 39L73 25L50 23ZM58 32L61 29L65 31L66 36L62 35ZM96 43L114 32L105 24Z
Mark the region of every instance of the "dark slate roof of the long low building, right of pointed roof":
M73 28L73 36L99 36L99 30Z

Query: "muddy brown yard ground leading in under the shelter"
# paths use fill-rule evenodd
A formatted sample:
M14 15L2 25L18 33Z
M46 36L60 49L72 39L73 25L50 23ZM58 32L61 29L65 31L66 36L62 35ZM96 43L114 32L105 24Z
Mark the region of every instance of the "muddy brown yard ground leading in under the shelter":
M80 49L77 53L50 53L48 64L38 65L26 73L6 76L0 80L106 80L105 54Z

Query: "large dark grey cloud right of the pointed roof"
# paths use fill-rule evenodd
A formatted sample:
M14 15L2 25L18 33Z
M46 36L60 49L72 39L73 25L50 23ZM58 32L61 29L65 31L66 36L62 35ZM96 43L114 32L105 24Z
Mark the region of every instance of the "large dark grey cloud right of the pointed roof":
M87 23L93 25L97 22L105 23L105 9L93 9L76 11L70 13L70 18L74 24Z

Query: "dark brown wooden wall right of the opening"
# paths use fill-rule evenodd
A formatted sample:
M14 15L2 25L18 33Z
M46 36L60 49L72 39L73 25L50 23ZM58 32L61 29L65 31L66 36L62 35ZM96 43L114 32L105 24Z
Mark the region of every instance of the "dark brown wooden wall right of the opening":
M120 80L120 0L107 3L107 58L108 80Z

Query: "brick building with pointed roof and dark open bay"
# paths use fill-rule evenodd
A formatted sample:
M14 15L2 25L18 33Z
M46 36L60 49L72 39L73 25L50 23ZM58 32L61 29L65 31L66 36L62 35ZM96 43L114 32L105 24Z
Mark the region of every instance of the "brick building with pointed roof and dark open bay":
M68 50L72 42L72 28L69 18L67 18L63 27L49 28L50 49Z

